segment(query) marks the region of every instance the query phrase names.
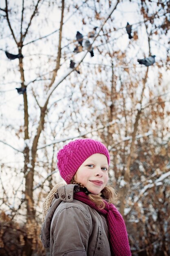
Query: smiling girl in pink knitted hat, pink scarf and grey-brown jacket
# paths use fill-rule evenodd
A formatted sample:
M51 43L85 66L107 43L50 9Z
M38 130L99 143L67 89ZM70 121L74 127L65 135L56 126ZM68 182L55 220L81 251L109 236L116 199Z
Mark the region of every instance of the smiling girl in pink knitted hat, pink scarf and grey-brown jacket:
M99 141L77 139L57 154L66 184L56 185L43 204L41 242L51 256L130 256L124 220L106 186L109 153Z

